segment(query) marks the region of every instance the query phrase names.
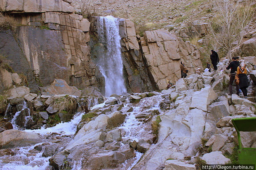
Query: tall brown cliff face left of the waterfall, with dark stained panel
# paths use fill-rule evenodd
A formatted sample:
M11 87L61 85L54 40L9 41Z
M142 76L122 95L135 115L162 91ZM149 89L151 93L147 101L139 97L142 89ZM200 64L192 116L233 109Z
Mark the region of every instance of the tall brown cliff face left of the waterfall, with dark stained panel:
M62 0L19 2L21 6L11 0L0 4L19 24L26 25L16 33L0 32L0 52L12 61L14 71L26 74L31 92L36 92L37 86L50 85L55 78L77 88L95 85L95 65L86 44L90 22L69 14L74 9Z

